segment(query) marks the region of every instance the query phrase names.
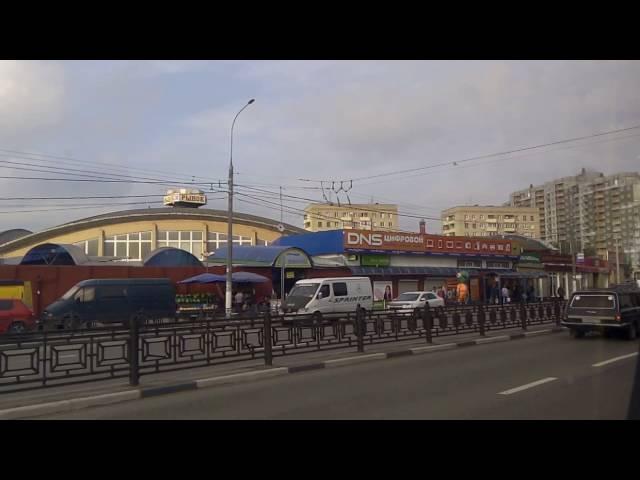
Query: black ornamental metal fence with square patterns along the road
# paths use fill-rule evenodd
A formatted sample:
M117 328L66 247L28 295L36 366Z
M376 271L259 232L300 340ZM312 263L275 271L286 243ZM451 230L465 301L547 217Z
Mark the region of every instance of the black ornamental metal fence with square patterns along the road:
M456 306L331 316L273 315L0 336L0 393L141 376L317 350L560 324L565 302ZM131 355L131 352L134 352Z

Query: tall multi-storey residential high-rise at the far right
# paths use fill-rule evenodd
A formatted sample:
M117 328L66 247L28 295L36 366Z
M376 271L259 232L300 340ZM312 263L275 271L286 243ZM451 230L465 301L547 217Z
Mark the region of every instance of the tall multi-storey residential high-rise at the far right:
M536 207L540 238L565 251L594 249L606 257L619 244L626 259L640 264L640 173L579 175L513 192L509 205Z

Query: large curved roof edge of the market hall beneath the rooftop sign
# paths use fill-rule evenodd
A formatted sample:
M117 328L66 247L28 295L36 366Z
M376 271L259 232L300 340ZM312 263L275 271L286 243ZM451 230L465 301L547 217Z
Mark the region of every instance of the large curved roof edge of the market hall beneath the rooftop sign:
M7 241L5 244L0 243L0 254L5 251L14 250L29 246L38 242L46 242L52 237L73 233L79 230L85 230L95 227L103 227L126 222L139 221L158 221L158 220L204 220L226 222L227 212L224 210L213 210L208 208L145 208L137 210L124 210L120 212L106 213L95 217L83 218L73 222L65 223L57 227L48 228L36 233L29 233L20 238ZM279 222L270 218L248 215L246 213L233 214L233 222L240 225L248 225L257 228L264 228L274 232L290 235L294 233L303 233L304 229L294 227L293 225L283 224L284 230L280 232L278 229Z

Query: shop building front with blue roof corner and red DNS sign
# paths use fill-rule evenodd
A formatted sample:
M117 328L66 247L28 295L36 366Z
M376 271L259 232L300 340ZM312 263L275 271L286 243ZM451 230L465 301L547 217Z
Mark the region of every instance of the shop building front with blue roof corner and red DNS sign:
M457 273L467 271L471 300L483 302L487 282L518 275L518 256L504 239L333 230L283 236L274 245L300 248L316 266L346 267L352 275L369 277L378 301L434 288L451 296Z

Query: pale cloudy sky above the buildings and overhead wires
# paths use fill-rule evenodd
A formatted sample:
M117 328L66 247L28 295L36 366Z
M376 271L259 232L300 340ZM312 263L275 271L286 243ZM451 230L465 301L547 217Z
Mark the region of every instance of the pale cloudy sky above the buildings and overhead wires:
M127 196L185 184L226 209L231 123L255 98L234 129L235 211L279 220L282 186L293 225L309 200L373 199L439 232L451 206L640 170L640 129L454 164L638 126L638 85L638 61L0 61L0 177L92 180L0 178L0 231L159 206ZM69 196L118 198L51 199Z

